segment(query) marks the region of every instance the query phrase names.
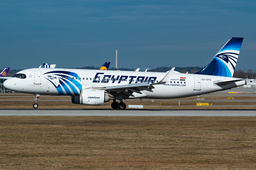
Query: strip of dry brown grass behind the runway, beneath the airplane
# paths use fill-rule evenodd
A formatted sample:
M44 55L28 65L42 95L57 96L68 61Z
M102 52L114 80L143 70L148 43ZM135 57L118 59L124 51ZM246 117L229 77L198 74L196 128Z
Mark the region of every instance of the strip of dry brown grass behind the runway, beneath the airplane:
M254 94L255 95L255 94ZM124 102L128 106L129 104L141 104L146 109L256 109L256 95L254 96L241 96L232 94L234 100L228 100L227 96L212 95L202 96L205 100L197 100L197 96L181 99L132 99L125 100ZM3 94L0 95L0 109L32 109L34 101L33 95L28 94ZM24 101L25 100L25 101ZM152 102L154 100L154 102ZM187 101L191 100L191 101ZM217 101L207 101L217 100ZM218 101L221 100L221 101ZM239 101L238 101L239 100ZM243 101L252 100L252 101ZM39 109L110 109L112 101L104 103L104 106L84 106L81 104L71 103L70 96L49 96L41 95L38 102ZM212 107L196 106L197 102L212 103ZM180 106L179 106L180 104ZM189 107L188 107L189 106ZM236 106L236 107L219 107L219 106ZM239 107L237 107L239 106Z

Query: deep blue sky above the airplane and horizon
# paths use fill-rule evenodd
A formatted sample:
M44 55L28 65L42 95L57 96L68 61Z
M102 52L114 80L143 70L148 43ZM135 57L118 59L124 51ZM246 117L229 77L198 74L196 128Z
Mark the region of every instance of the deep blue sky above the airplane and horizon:
M0 69L203 67L244 37L236 69L255 68L256 1L1 1ZM7 60L6 60L7 59Z

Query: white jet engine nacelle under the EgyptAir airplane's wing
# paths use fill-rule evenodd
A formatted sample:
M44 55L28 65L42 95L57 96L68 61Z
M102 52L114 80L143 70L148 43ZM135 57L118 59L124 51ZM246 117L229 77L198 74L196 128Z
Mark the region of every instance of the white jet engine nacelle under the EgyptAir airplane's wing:
M101 105L108 102L110 97L102 90L95 89L81 89L80 103L85 105Z

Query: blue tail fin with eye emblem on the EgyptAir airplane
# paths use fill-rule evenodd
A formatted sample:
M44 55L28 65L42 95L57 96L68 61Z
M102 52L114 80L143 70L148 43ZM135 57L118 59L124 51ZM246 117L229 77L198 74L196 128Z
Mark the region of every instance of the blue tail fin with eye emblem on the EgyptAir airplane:
M212 60L195 74L232 77L243 39L236 37L230 38Z

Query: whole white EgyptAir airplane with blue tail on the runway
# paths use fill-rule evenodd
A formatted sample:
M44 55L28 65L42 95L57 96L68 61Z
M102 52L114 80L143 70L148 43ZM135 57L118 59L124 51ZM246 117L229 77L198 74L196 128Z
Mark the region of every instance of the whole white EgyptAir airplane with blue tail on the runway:
M69 95L74 104L125 109L125 99L175 99L202 95L246 84L233 78L243 38L232 37L206 66L195 74L167 72L31 68L4 82L12 91L35 95ZM116 101L118 100L119 103Z

